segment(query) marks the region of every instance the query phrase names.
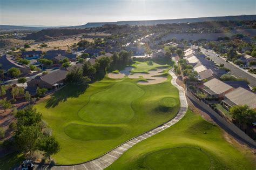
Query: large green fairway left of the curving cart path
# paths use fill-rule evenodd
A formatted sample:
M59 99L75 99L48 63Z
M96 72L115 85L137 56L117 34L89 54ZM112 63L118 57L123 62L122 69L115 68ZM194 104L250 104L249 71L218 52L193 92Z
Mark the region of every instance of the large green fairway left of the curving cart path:
M139 85L140 79L105 77L89 87L66 86L35 105L60 142L60 152L53 155L57 164L94 159L173 118L179 110L179 96L171 76L166 76L167 81L154 85ZM166 106L160 103L162 99Z

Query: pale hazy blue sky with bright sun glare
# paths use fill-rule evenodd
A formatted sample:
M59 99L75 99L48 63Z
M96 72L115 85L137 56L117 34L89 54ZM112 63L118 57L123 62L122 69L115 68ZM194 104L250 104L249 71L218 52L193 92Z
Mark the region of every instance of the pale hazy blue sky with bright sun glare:
M0 0L2 25L83 25L256 14L256 0Z

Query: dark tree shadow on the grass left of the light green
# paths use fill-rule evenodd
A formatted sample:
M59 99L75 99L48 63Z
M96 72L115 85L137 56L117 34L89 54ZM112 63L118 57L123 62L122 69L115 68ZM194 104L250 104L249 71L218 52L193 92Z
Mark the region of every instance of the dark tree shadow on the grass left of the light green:
M67 85L63 89L53 93L51 98L46 101L46 108L54 108L59 103L65 102L68 98L77 98L83 94L89 85Z

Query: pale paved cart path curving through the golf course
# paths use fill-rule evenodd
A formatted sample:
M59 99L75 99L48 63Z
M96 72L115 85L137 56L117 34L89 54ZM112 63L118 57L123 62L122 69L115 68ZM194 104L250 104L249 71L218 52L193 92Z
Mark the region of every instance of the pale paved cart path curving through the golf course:
M173 70L173 69L172 69ZM126 141L124 144L114 148L112 151L109 151L108 153L104 154L103 156L84 162L83 164L78 165L36 165L35 169L85 169L85 170L91 170L91 169L104 169L107 166L111 165L114 161L116 161L119 157L122 156L124 152L126 152L129 148L132 146L138 144L138 142L143 141L149 137L151 137L154 134L157 134L161 131L164 131L166 128L171 127L172 125L176 124L181 118L184 117L186 111L187 111L187 100L186 95L183 87L179 86L176 83L177 77L172 72L172 70L169 71L169 73L172 76L171 83L173 86L177 87L179 90L179 99L180 99L180 110L176 117L174 117L172 120L168 121L167 123L160 125L157 128L154 128L153 130L143 133L142 135L139 135L136 138L133 138L129 141Z

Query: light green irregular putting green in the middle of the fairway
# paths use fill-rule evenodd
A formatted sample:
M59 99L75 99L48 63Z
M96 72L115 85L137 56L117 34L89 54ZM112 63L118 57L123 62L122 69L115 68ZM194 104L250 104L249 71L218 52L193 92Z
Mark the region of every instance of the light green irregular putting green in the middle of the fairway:
M132 102L143 94L144 90L133 83L116 83L105 91L93 94L78 115L92 123L122 123L134 117Z

